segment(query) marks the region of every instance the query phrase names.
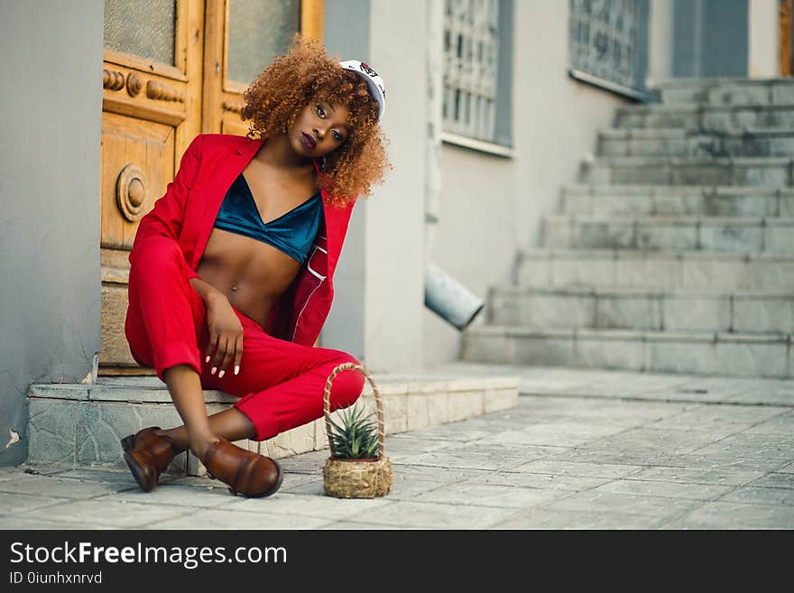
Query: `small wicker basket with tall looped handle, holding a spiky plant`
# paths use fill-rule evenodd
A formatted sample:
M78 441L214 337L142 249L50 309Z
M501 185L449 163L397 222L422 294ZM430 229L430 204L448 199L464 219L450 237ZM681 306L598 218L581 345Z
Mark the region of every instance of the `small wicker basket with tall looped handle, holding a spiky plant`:
M326 459L323 468L323 486L328 496L337 498L374 498L385 496L392 488L392 462L384 452L385 431L383 431L383 400L378 393L373 378L366 372L364 366L345 363L337 366L326 383L324 398L324 412L326 416L326 431L328 442L331 441L331 382L342 371L356 370L365 375L370 385L373 386L375 403L378 408L378 457L377 459Z

